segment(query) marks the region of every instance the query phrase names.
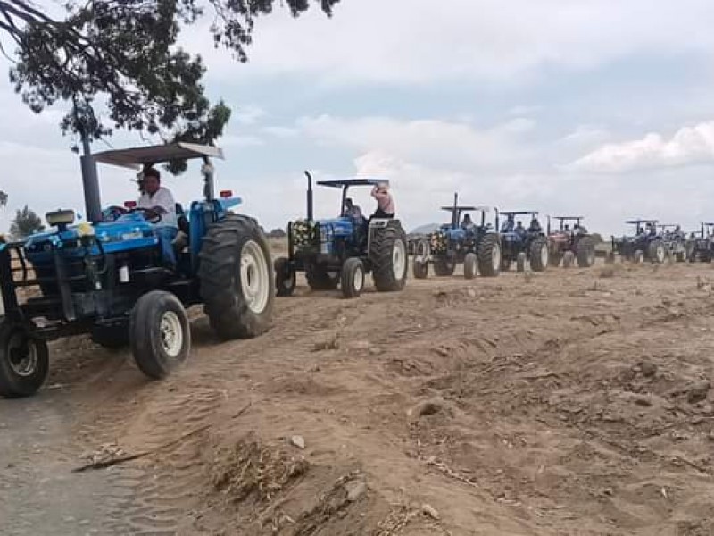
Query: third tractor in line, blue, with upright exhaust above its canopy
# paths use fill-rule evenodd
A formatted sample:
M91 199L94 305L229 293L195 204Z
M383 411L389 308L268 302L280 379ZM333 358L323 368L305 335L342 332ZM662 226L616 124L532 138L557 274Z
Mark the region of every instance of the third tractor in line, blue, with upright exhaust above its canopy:
M488 207L459 205L459 194L454 194L453 205L441 208L452 214L452 221L414 245L414 277L428 277L429 263L434 264L438 276L453 275L456 264L463 264L466 279L473 279L478 273L487 277L498 275L501 237L491 223L486 223ZM471 212L481 214L479 224L471 221Z

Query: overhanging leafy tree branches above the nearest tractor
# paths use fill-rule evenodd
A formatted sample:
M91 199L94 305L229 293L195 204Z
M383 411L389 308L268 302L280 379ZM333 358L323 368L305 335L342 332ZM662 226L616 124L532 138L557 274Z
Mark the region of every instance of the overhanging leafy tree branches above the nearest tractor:
M339 0L314 0L328 16ZM278 4L279 3L279 4ZM212 17L215 46L247 61L257 18L286 4L297 17L310 0L66 0L53 17L31 0L0 0L0 38L12 38L10 79L36 113L71 103L62 131L96 139L112 129L212 143L230 110L211 106L201 57L177 46L182 29ZM1 48L1 47L0 47ZM104 98L108 119L95 109Z

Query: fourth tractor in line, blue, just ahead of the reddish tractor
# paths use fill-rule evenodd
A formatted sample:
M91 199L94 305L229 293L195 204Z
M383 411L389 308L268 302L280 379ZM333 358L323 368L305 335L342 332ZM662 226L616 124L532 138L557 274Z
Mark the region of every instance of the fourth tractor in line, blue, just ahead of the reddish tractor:
M505 217L499 227L501 216ZM528 226L525 227L518 216L530 217ZM534 272L544 272L548 267L550 247L543 227L538 222L538 213L533 210L496 211L496 227L502 237L503 255L501 269L508 272L512 263L516 263L516 270L524 272L527 265Z

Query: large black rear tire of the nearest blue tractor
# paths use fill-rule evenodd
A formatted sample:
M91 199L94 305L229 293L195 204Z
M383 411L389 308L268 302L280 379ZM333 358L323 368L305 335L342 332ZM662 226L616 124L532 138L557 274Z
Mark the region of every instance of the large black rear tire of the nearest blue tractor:
M255 308L245 297L241 276L241 256L251 255L261 264L253 271L253 282L263 288ZM214 223L203 238L198 279L203 309L221 339L249 339L270 328L275 297L275 278L270 249L253 218L228 214ZM246 284L250 284L248 281Z

